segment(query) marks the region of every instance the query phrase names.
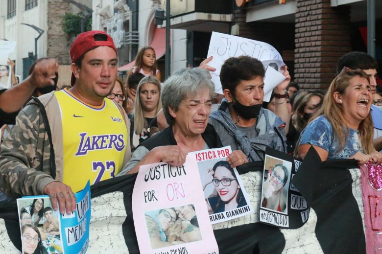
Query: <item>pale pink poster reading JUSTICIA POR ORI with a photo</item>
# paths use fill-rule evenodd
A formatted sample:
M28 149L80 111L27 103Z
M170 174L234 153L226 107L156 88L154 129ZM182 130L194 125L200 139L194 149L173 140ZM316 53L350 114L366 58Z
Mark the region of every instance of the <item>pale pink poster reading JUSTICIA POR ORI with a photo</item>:
M141 253L218 253L194 155L141 166L132 208Z

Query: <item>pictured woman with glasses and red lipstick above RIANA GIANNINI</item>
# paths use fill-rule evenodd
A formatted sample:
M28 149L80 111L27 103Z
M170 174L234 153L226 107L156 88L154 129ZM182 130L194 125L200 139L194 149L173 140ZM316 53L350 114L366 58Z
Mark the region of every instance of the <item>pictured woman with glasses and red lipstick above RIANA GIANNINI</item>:
M247 202L240 188L234 169L226 161L216 162L209 173L217 195L206 199L208 211L219 213L244 207ZM204 186L204 188L206 185Z

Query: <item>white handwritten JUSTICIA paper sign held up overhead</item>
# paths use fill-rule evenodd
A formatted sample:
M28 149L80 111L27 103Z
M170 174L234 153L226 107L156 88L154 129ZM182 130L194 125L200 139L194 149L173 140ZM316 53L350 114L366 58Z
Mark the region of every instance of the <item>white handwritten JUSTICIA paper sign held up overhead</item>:
M283 73L280 69L282 66L285 65L283 62L283 58L281 57L279 51L277 51L277 49L273 46L264 42L250 40L239 36L213 32L211 36L210 46L208 48L207 57L214 56L213 60L211 60L211 62L209 62L208 65L216 69L215 71L211 72L211 77L212 81L215 84L216 93L223 94L219 75L221 66L223 65L224 61L230 57L238 57L241 55L250 56L262 61L264 69L266 69L266 67L269 64L275 63L280 74ZM270 81L272 80L273 79L271 79ZM272 84L265 83L265 80L264 84L266 88L273 86ZM273 88L274 87L275 86L273 86Z

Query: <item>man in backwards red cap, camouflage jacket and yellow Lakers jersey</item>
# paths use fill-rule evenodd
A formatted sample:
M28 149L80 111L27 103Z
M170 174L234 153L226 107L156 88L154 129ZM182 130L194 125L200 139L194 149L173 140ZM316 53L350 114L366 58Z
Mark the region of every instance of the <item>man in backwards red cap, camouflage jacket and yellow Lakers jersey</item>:
M117 176L131 157L128 117L106 98L118 71L113 39L82 33L70 54L72 88L29 102L0 149L0 190L47 194L62 214L75 210L73 192Z

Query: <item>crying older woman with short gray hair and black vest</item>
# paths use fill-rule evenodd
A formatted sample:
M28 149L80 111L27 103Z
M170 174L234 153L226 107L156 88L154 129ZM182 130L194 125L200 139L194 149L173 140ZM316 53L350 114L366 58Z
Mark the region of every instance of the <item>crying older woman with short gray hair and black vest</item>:
M163 113L169 127L141 143L119 175L136 173L141 165L167 162L180 166L189 152L222 147L208 123L214 83L206 69L184 68L170 76L162 89ZM248 162L242 151L233 151L232 167Z

